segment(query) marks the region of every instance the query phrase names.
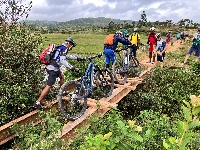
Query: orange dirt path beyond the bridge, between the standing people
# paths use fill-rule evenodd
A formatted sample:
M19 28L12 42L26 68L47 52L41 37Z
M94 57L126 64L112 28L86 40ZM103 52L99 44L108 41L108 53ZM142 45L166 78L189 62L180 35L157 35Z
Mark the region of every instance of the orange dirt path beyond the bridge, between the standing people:
M179 47L181 46L180 42L177 42L175 40L174 44L171 46L170 44L167 45L167 49L166 49L166 55L168 52L173 52L176 51ZM154 66L154 64L151 63L147 63L149 61L149 57L145 56L142 60L140 60L140 64L144 67L152 67Z

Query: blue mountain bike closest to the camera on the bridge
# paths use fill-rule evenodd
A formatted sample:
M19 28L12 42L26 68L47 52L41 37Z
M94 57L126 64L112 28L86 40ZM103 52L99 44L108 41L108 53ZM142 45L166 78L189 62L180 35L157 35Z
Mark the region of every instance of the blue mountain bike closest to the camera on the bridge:
M89 61L85 75L79 81L68 81L64 83L58 93L58 105L62 115L69 120L80 118L87 109L87 98L93 95L96 88L100 95L108 97L114 89L112 73L106 69L100 69L92 60L100 58L97 56L82 58ZM64 105L64 103L67 103Z

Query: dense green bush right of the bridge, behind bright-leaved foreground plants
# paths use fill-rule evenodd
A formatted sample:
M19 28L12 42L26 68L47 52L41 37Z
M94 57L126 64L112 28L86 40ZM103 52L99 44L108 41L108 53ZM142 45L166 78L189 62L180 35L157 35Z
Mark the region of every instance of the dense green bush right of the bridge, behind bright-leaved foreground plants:
M137 116L142 110L153 110L170 117L181 110L182 100L199 95L200 78L191 71L155 68L138 88L120 101L125 117ZM132 109L134 108L134 109Z

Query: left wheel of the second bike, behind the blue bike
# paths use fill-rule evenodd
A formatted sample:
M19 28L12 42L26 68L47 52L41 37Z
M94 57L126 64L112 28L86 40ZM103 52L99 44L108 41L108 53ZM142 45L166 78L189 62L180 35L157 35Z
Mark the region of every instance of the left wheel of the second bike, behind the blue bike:
M119 83L119 84L125 84L127 81L127 73L128 70L124 64L123 61L115 61L112 65L112 71L113 71L113 75L115 80Z

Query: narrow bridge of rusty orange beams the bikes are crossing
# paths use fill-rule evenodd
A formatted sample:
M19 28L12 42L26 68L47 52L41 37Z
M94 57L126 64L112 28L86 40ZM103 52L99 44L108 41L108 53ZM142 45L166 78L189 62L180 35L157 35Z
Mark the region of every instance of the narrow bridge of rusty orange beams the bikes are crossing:
M71 142L71 137L76 136L75 129L82 127L83 125L89 125L87 120L93 114L98 116L104 115L111 108L117 107L117 103L125 97L131 90L135 90L137 85L140 84L145 77L145 74L150 71L151 68L145 70L139 77L128 78L127 83L124 85L115 84L115 89L110 97L102 98L99 101L95 99L88 98L88 108L85 111L84 115L75 121L69 121L63 126L62 134L59 138L67 139ZM98 105L97 105L98 104ZM57 100L49 104L45 111L48 111L51 108L58 108ZM0 127L0 145L12 140L16 135L11 132L12 126L17 123L19 125L25 125L33 122L35 125L39 124L42 120L38 119L39 111L34 110L18 119L15 119L3 126Z

